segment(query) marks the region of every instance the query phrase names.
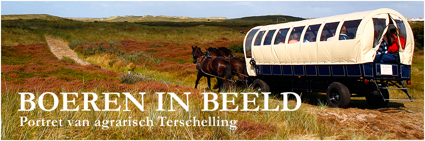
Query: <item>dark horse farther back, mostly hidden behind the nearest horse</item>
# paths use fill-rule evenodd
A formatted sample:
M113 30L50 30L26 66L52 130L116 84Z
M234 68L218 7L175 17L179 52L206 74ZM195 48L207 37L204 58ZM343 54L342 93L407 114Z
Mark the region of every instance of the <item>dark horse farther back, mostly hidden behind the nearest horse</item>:
M226 47L224 47L226 48ZM223 57L222 53L216 49L216 48L206 48L207 51L205 51L206 56L211 57ZM226 48L227 49L227 48ZM230 51L230 50L229 50ZM231 52L230 52L231 54ZM233 55L231 55L233 56ZM232 68L232 74L238 76L238 78L245 80L245 76L248 76L248 73L246 71L246 63L245 60L239 57L230 57L228 58L230 62L230 66Z

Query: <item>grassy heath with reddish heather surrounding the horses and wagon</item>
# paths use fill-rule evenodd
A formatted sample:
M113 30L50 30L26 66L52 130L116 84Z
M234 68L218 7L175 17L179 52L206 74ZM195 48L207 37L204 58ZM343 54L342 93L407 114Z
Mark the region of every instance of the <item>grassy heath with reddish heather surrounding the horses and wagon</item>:
M3 18L3 16L2 16ZM201 111L203 92L207 90L206 79L202 78L199 89L193 89L196 78L195 64L192 63L191 46L229 47L241 44L244 34L257 25L269 23L229 22L167 22L124 23L124 22L79 22L68 19L16 19L3 20L1 24L1 119L3 140L414 140L424 139L424 56L416 53L412 64L412 85L409 93L417 102L390 102L389 107L401 111L385 113L371 109L364 98L353 98L355 108L327 108L324 94L302 93L303 104L296 111ZM257 24L257 25L255 25ZM78 55L91 65L78 65L70 59L57 59L50 51L44 39L46 35L66 40ZM105 69L106 68L106 69ZM120 77L131 71L143 76L142 81L123 83ZM212 79L215 84L215 79ZM62 103L53 111L42 111L37 106L33 111L20 109L19 94L22 92L38 95L44 92L78 93L75 106L79 111L60 111ZM105 107L105 97L101 93L131 93L136 99L144 95L145 111L134 104L131 111L123 111L125 97L116 98L120 111L81 111L83 97L81 93L98 94L96 105ZM176 101L176 111L157 111L158 94L155 92L176 93L186 103L184 92L189 95L189 111L185 111ZM225 92L252 92L242 87L232 87ZM269 107L283 106L279 94L270 95ZM390 98L406 98L405 94L390 91ZM29 98L29 97L27 97ZM92 97L89 96L89 99ZM212 97L210 97L211 99ZM244 108L244 95L229 95L229 109ZM256 105L264 108L264 97L255 98ZM52 96L46 96L46 108L52 107ZM169 95L164 95L164 109L169 109ZM37 100L34 100L37 103ZM219 109L223 102L221 94L217 99ZM111 104L111 109L117 108ZM366 106L365 106L366 105ZM29 108L29 104L26 105ZM124 107L123 107L124 106ZM212 109L212 104L209 105ZM289 107L295 102L290 100ZM357 108L359 107L359 108ZM92 108L91 108L92 109ZM409 111L409 112L408 112ZM411 113L410 113L411 112ZM37 120L88 120L89 126L19 126L19 117ZM237 129L229 126L160 126L157 117L168 119L208 120L208 117L238 120ZM360 118L359 118L360 116ZM376 116L375 118L373 116ZM131 118L129 118L131 117ZM154 120L153 126L110 126L102 129L95 126L96 120ZM401 124L393 124L393 123ZM408 125L408 127L401 126Z

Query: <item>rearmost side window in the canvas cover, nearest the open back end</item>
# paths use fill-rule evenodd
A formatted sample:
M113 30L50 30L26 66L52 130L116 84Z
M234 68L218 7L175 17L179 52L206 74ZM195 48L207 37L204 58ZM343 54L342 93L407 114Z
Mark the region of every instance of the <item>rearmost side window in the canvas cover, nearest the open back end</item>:
M359 28L361 19L344 21L340 31L339 40L349 40L356 38L357 28Z

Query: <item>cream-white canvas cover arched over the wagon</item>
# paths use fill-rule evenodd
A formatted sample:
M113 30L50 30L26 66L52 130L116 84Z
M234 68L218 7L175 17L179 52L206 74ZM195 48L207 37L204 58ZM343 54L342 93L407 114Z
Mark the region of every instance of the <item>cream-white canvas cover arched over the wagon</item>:
M349 23L355 26L349 28ZM350 33L342 31L343 27ZM391 28L406 40L402 45L405 48L399 48L400 63L411 65L414 41L409 23L400 13L387 8L255 27L245 36L245 59L247 63L254 58L256 64L277 65L370 63L374 62L382 39L390 39L384 34ZM297 30L299 42L290 44L291 34ZM343 32L351 34L347 40L325 37ZM387 44L391 45L391 41ZM248 66L248 73L253 73L252 66Z

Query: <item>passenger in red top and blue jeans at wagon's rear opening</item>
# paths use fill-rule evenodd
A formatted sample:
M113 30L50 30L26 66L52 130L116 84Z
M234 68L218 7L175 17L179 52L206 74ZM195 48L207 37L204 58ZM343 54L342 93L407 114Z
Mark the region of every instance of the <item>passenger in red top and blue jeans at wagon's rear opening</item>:
M379 55L375 56L375 62L379 62L379 63L389 63L389 62L394 62L394 61L399 61L400 60L400 56L398 54L398 49L400 48L400 46L398 45L398 38L397 38L397 30L396 29L391 29L390 30L390 37L393 39L391 46L388 47L388 52L387 53L382 53ZM402 49L404 49L404 45L406 44L406 40L403 39L402 37L400 37L400 43L402 45Z

